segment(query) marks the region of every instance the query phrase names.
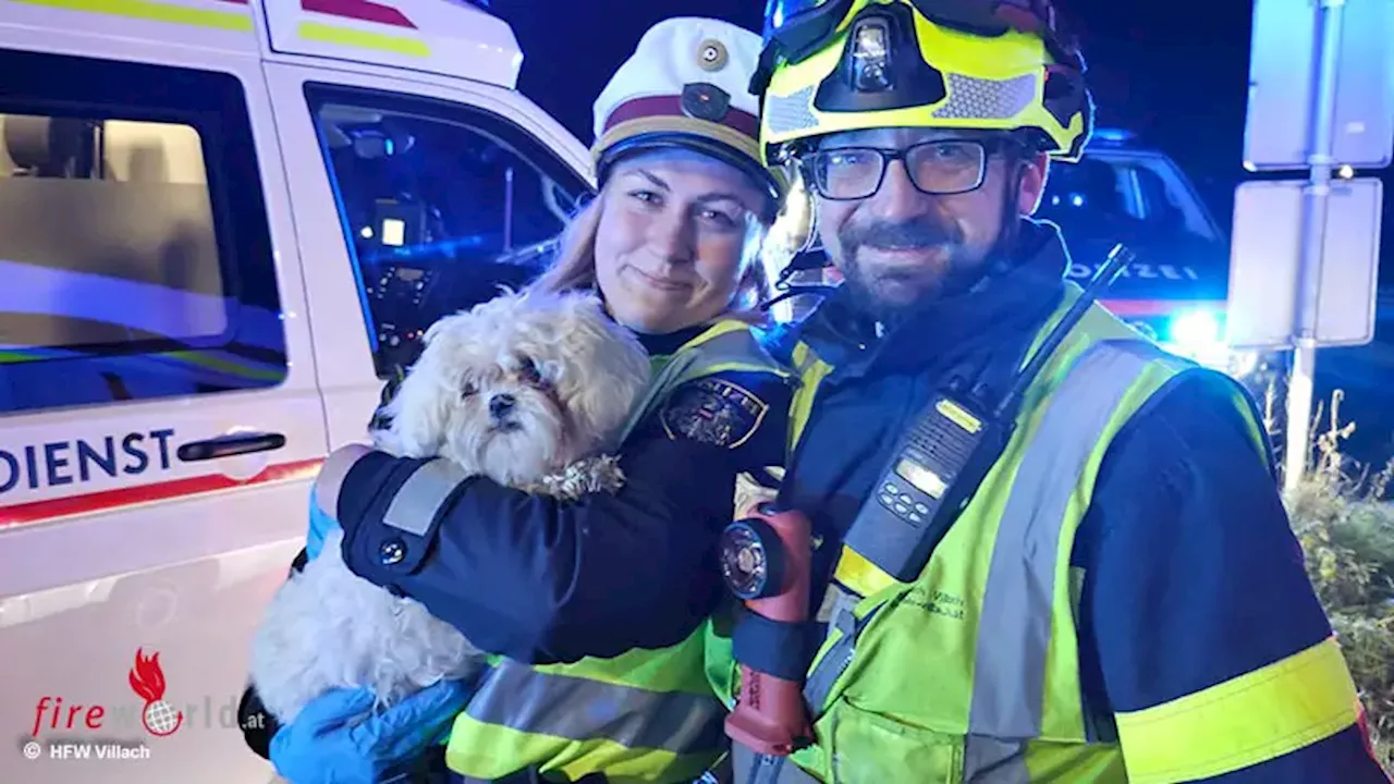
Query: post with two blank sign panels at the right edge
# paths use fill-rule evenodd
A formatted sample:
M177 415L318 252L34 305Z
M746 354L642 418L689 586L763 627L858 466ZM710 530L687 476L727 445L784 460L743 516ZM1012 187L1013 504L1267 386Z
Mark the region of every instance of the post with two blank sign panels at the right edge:
M1274 261L1271 254L1259 255L1256 246L1273 251L1274 241L1282 240L1260 239L1253 232L1256 220L1263 220L1267 232L1281 236L1281 225L1271 212L1255 212L1271 194L1260 194L1253 186L1274 183L1239 187L1231 247L1230 324L1232 345L1292 350L1284 455L1284 484L1289 490L1302 478L1310 458L1316 349L1352 345L1351 336L1331 335L1331 329L1324 329L1331 319L1323 318L1323 310L1340 310L1340 303L1333 300L1342 297L1348 304L1368 303L1369 335L1363 339L1356 336L1356 342L1369 342L1373 336L1381 191L1373 188L1376 206L1366 220L1370 225L1344 226L1335 237L1331 236L1330 206L1333 187L1341 183L1337 180L1333 186L1337 166L1383 167L1394 153L1391 22L1394 11L1390 0L1315 0L1315 7L1313 0L1255 3L1245 167L1309 169L1309 176L1302 187L1298 233L1277 254L1280 258L1291 257L1295 269L1277 286L1255 283L1257 273ZM1291 187L1295 183L1277 186ZM1361 215L1369 212L1359 211ZM1369 237L1373 237L1372 252L1333 254L1333 239L1338 248L1349 250L1349 240L1359 243ZM1282 250L1292 252L1284 254ZM1338 287L1323 292L1323 283L1330 278L1328 265L1342 264L1365 265L1368 273L1363 279L1369 285L1355 290ZM1362 279L1358 273L1342 278ZM1263 296L1256 297L1257 290ZM1270 312L1274 304L1277 311ZM1284 319L1278 329L1273 329L1276 315Z

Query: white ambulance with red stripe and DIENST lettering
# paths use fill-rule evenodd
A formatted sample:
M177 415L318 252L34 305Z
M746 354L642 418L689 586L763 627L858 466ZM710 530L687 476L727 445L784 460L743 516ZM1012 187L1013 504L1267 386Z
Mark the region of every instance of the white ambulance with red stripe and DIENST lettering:
M0 0L0 781L273 778L323 455L592 187L460 0Z

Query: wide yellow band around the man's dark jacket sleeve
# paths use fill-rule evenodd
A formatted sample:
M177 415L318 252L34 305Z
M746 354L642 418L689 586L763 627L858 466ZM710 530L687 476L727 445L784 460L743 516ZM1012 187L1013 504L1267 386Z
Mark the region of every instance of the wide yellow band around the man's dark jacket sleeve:
M1128 780L1190 781L1282 756L1355 724L1335 638L1202 692L1119 713ZM1184 749L1185 753L1177 753Z

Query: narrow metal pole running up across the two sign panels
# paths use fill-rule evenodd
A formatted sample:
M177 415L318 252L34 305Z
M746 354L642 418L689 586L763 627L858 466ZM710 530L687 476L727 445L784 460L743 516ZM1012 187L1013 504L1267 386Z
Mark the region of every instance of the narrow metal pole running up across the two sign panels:
M1345 0L1317 0L1316 89L1312 93L1312 167L1302 213L1302 265L1298 268L1298 333L1288 381L1284 487L1294 490L1306 473L1312 441L1312 386L1316 374L1316 322L1326 246L1326 213L1331 194L1333 126L1335 121L1337 63L1341 50L1341 11Z

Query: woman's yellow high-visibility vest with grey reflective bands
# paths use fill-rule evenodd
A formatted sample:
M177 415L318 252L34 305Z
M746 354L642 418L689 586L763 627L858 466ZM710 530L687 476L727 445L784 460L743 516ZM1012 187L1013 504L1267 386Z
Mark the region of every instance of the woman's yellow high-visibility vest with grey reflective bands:
M725 371L792 375L739 321L721 321L655 357L654 370L626 431L687 381ZM726 711L703 672L703 638L698 629L672 647L574 664L492 657L454 720L446 764L484 780L537 767L570 780L602 773L611 784L691 781L726 748Z

